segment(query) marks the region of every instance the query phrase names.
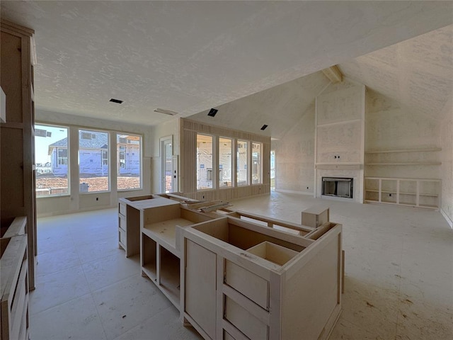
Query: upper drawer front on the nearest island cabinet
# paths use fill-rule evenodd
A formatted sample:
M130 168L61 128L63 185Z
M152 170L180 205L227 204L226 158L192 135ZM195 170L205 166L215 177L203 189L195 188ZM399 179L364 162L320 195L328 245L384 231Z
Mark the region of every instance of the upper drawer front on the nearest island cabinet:
M226 261L225 267L227 285L265 310L269 310L269 283L267 280L231 261Z

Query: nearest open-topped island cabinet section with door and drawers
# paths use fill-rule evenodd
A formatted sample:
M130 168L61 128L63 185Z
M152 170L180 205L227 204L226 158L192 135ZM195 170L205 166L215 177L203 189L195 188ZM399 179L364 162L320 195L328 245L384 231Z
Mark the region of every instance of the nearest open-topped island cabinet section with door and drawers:
M204 339L328 339L341 312L342 226L316 239L236 217L180 228L180 312Z

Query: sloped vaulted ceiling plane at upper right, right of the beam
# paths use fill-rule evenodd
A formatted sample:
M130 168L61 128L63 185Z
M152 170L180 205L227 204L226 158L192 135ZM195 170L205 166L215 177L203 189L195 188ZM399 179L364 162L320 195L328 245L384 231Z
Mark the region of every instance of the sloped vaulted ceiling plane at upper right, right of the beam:
M453 96L453 25L339 65L343 74L413 111L442 119ZM452 114L450 111L449 114Z

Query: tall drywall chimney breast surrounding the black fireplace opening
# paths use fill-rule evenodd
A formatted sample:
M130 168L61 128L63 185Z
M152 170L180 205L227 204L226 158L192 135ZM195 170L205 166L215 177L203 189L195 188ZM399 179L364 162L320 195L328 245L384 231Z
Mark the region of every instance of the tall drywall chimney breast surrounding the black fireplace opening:
M334 199L362 203L365 85L346 78L340 83L330 84L316 97L315 118L316 197L321 197L323 177L352 178L352 199Z

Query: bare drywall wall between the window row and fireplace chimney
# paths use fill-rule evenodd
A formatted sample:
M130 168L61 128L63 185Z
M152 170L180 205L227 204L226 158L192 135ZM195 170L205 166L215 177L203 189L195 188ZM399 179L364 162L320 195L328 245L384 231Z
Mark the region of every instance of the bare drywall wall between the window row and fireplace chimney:
M314 101L280 140L274 140L275 191L314 192Z

